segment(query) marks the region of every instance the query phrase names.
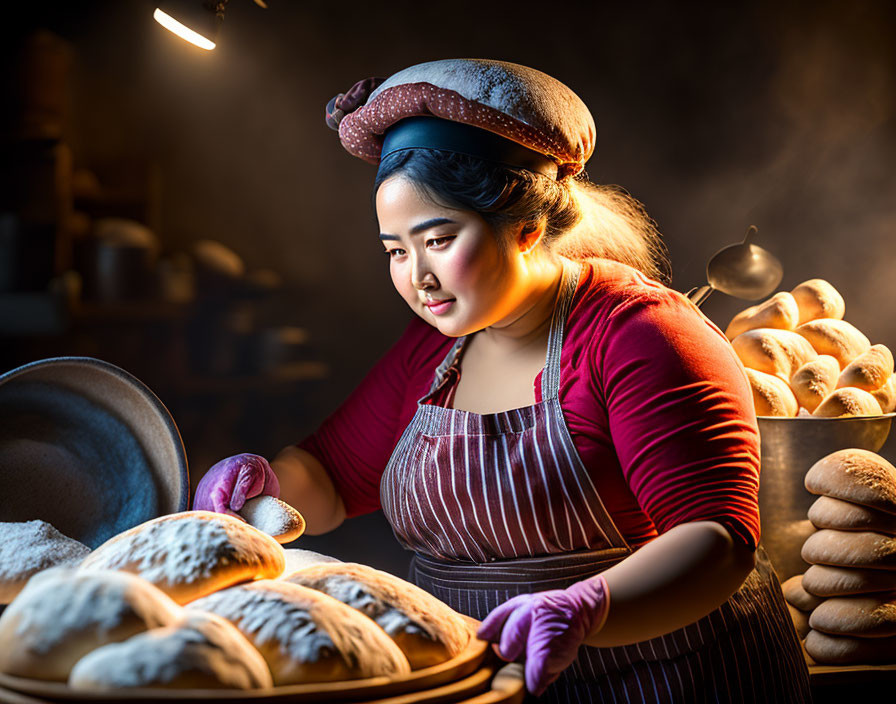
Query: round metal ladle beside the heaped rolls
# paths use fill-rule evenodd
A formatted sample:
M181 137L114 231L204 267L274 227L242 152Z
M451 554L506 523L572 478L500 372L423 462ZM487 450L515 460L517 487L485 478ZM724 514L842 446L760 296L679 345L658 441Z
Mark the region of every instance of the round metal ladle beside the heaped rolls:
M694 305L703 305L713 291L756 301L778 287L784 268L771 252L751 244L750 240L758 231L755 225L750 225L743 242L723 247L712 255L706 265L706 285L692 288L685 294Z

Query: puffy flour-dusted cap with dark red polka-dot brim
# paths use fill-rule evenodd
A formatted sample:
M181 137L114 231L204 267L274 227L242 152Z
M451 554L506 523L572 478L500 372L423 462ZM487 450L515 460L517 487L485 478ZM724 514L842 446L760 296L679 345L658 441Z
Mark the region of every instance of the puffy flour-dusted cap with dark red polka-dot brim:
M410 117L486 130L556 164L557 178L584 168L596 138L588 108L560 81L526 66L487 59L429 61L386 79L359 81L333 98L326 114L345 149L372 164L379 163L390 128Z

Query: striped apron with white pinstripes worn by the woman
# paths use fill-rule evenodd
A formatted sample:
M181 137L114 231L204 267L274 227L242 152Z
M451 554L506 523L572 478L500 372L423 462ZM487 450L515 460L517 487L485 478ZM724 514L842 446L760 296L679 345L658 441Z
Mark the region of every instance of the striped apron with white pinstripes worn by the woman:
M396 537L416 553L411 581L479 620L517 594L568 587L632 553L560 407L560 352L577 279L576 265L564 261L543 400L486 415L428 403L458 373L459 338L380 484ZM761 548L757 558L741 588L699 621L633 645L582 646L539 701L809 701L780 584Z

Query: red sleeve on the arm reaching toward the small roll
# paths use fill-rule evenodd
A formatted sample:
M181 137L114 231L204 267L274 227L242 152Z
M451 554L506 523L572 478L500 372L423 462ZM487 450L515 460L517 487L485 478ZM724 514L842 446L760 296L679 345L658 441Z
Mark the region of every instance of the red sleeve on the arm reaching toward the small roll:
M380 506L380 477L452 339L420 318L298 447L327 470L351 518Z

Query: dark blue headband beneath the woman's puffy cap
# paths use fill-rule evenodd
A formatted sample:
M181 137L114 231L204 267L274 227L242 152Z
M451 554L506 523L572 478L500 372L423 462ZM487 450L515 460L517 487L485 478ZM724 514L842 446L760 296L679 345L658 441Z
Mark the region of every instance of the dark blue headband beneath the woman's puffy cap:
M440 117L406 117L386 131L380 163L405 149L438 149L528 169L557 178L557 164L548 157L505 137L463 122Z

